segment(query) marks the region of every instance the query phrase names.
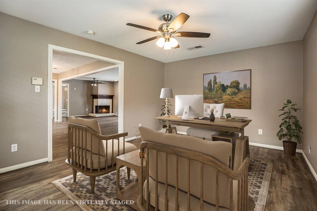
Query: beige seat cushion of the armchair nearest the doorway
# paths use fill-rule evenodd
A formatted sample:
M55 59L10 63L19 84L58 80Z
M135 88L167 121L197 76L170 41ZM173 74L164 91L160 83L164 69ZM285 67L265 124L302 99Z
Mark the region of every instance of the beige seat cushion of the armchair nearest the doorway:
M103 141L103 144L104 146L106 146L106 140L102 140ZM123 141L120 141L120 145L119 145L120 149L119 149L119 155L122 155L123 154ZM78 149L79 150L79 153L78 153ZM125 153L128 153L128 152L132 152L133 150L136 150L137 147L133 144L130 144L128 142L125 142ZM75 147L74 147L74 150L75 150ZM106 151L106 148L104 149ZM82 163L81 162L81 148L76 148L76 151L77 151L77 159L78 159L78 156L80 156L80 164ZM85 149L83 150L83 155L84 155L84 160L85 160ZM113 140L113 164L116 164L116 157L118 156L118 140L114 139ZM98 154L94 154L93 153L93 169L98 169ZM112 160L111 160L111 157L112 157L112 140L108 140L108 160L107 160L107 165L108 167L112 165ZM85 161L84 161L84 164L83 166L85 166ZM90 152L87 151L87 168L90 169ZM103 169L103 168L106 168L106 157L104 156L100 156L100 169Z

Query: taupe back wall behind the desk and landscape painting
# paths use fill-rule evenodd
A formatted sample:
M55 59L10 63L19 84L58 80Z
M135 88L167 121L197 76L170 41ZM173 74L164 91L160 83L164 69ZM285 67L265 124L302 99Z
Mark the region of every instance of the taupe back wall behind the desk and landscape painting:
M302 58L299 40L165 63L165 87L172 88L174 95L203 94L204 73L252 69L252 109L224 109L224 113L252 119L245 129L250 142L282 146L276 138L281 122L278 110L284 98L302 109ZM171 102L174 106L174 99ZM297 116L302 123L302 110ZM263 135L258 135L258 129Z

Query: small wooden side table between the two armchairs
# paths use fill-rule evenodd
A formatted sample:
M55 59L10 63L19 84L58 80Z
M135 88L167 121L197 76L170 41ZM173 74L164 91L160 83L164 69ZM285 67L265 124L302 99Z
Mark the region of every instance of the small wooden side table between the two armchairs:
M143 158L143 166L146 167L146 160ZM117 166L117 191L116 198L119 200L133 200L133 204L128 204L135 210L138 210L137 198L139 196L139 188L142 183L145 182L146 168L143 168L143 179L140 178L141 171L141 158L139 157L139 150L134 150L132 152L120 155L116 160ZM133 183L127 185L126 187L120 186L120 168L126 166L128 171L128 178L130 177L130 171L133 169L137 175L137 180ZM141 181L142 183L140 183Z

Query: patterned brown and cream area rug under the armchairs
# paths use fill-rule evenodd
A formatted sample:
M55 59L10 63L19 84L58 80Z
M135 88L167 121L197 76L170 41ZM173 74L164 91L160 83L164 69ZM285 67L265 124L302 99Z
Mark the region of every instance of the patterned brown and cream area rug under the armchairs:
M272 163L251 159L249 166L249 195L255 202L255 211L264 210L272 167ZM136 178L137 176L132 170L130 179L128 179L126 167L121 168L120 185L122 187L132 183ZM73 182L73 176L70 175L52 183L70 200L78 204L82 210L134 210L128 205L121 204L115 198L116 171L96 177L95 192L93 194L90 193L89 177L81 173L77 173L76 182Z

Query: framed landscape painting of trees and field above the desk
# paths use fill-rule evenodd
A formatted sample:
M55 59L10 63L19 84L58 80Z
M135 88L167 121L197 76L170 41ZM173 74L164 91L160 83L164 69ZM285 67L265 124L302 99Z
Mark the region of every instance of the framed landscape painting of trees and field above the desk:
M204 74L204 103L227 109L251 109L251 70Z

